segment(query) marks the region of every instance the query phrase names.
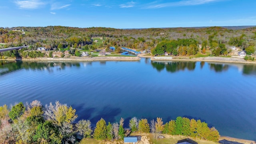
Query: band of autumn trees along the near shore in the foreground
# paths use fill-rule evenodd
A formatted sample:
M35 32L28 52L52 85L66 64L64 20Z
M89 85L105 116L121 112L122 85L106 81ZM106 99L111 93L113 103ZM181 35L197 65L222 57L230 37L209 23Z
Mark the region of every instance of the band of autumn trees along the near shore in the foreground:
M124 118L120 122L108 124L101 118L92 128L90 120L79 120L76 110L56 101L55 104L42 106L34 100L10 106L0 106L0 143L1 144L74 144L77 134L96 140L123 140L130 133L153 133L158 139L160 134L184 135L218 142L218 130L201 120L177 117L169 122L162 118L151 120L133 117L129 128L124 127Z

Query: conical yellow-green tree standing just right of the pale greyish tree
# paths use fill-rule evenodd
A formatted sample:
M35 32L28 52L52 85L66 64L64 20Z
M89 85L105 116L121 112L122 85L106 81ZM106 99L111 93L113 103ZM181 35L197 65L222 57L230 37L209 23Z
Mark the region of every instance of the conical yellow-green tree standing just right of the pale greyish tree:
M106 138L107 138L107 126L106 126L106 121L103 118L101 118L96 123L96 128L94 129L93 137L96 140L106 140Z

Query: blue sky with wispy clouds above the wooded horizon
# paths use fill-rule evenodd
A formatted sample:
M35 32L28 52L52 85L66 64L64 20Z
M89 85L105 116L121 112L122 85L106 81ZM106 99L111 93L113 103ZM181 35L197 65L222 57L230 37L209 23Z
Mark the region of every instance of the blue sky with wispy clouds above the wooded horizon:
M3 0L0 26L255 26L256 0Z

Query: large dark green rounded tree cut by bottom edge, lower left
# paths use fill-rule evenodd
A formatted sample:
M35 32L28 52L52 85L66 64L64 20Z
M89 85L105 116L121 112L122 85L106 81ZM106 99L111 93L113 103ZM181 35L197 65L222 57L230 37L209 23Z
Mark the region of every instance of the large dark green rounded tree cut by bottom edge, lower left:
M50 121L39 124L33 136L34 142L38 144L60 144L61 139L58 129Z

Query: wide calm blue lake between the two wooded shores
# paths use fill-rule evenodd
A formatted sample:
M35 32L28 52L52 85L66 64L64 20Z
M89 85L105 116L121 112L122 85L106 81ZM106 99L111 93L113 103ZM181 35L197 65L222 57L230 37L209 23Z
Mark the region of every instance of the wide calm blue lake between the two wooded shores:
M95 125L201 119L222 136L256 140L256 65L216 62L0 61L0 105L60 101Z

